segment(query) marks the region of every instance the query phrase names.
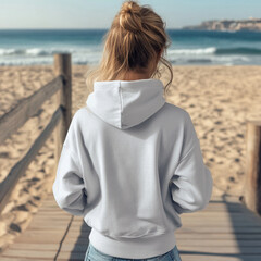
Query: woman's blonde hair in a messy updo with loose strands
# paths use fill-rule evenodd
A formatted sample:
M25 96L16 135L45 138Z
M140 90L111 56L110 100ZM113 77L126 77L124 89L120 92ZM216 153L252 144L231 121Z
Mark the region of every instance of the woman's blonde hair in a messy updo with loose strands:
M98 67L86 74L87 87L92 87L96 80L114 80L128 71L147 69L149 62L156 60L161 51L164 54L170 46L164 28L162 18L150 7L140 7L136 1L123 2L103 38L104 50ZM173 79L173 71L162 53L159 63L165 65L171 75L164 89L166 91ZM152 77L161 76L159 63Z

